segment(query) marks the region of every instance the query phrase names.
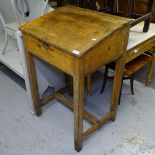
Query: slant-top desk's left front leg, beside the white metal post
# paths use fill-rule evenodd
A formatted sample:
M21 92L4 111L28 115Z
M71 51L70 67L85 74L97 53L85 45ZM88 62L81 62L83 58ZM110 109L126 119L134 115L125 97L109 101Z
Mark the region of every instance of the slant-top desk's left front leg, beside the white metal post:
M40 116L41 115L41 103L40 103L35 62L34 62L33 55L26 52L26 61L27 61L27 67L28 67L28 72L29 72L29 79L30 79L32 98L33 98L33 103L34 103L34 110L35 110L36 115Z

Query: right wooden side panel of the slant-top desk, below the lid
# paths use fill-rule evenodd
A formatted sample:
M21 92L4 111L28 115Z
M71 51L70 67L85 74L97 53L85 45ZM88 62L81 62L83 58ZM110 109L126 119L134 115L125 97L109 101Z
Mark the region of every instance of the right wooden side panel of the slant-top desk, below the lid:
M111 36L100 42L85 55L85 73L91 73L96 69L118 59L128 41L129 27L115 31ZM126 47L125 47L126 48Z

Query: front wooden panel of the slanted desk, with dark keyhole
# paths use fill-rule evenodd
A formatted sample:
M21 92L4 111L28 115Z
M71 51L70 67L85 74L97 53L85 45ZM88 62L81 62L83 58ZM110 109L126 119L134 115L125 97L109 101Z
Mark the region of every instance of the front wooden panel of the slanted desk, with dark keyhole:
M29 52L56 68L73 75L74 65L71 55L29 35L24 34L23 39L26 52Z

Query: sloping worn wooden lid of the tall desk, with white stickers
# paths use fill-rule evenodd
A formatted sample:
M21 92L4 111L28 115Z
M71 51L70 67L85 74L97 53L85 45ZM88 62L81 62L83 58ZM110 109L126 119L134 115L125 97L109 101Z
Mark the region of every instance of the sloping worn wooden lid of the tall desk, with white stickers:
M81 57L130 21L123 17L65 6L21 26L20 30Z

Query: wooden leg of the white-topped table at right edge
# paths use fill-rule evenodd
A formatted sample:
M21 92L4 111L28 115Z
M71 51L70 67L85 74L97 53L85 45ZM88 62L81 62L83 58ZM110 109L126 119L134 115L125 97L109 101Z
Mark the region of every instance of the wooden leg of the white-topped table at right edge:
M149 65L149 70L148 70L147 79L146 79L146 86L151 85L154 65L155 65L155 48L153 49L153 61Z

